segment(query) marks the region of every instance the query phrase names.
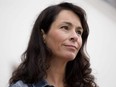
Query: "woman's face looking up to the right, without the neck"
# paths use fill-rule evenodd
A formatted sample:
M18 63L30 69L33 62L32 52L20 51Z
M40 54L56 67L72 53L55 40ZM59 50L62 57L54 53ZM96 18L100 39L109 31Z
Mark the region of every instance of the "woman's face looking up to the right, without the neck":
M82 45L83 29L79 17L70 10L62 10L50 30L44 34L45 44L54 58L73 60Z

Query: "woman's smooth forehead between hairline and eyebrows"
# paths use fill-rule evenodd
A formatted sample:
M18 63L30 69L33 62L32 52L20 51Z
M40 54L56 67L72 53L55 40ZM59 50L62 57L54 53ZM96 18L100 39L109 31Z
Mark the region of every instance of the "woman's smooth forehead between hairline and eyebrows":
M70 10L62 10L56 17L54 23L69 22L75 26L81 26L80 18Z

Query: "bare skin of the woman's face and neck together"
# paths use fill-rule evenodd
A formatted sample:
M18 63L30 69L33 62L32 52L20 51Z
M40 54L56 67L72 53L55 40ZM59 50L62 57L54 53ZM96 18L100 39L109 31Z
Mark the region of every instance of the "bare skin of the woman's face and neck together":
M81 48L82 33L79 17L70 10L62 10L52 23L49 32L43 34L45 44L53 53L46 78L49 84L64 87L65 67Z

